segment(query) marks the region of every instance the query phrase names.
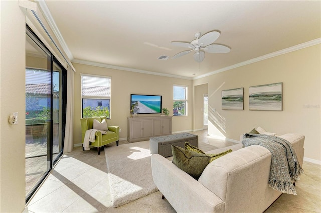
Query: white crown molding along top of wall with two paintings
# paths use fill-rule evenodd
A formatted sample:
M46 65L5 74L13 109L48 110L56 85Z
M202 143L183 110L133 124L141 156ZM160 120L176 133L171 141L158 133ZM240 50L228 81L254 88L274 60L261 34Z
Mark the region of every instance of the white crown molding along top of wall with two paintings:
M247 60L247 61L243 61L243 62L234 64L234 65L231 65L231 66L228 66L228 67L224 67L224 68L212 71L212 72L204 74L204 75L193 77L193 80L204 78L204 77L207 77L207 76L210 76L210 75L213 75L213 74L221 73L221 72L224 72L224 71L227 71L227 70L231 70L231 69L234 69L234 68L237 68L237 67L242 67L244 65L252 64L252 63L255 63L255 62L258 62L258 61L269 59L269 58L272 58L272 57L275 57L275 56L280 56L280 55L283 55L283 54L286 54L286 53L290 53L290 52L293 52L293 51L296 51L296 50L300 50L300 49L307 48L307 47L310 47L310 46L313 46L313 45L318 45L318 44L321 44L321 38L317 38L317 39L314 39L314 40L311 40L311 41L308 41L308 42L304 42L302 44L298 44L298 45L295 45L295 46L292 46L292 47L289 47L289 48L285 48L283 50L279 50L279 51L276 51L276 52L273 52L273 53L269 53L269 54L266 54L266 55L263 55L263 56L259 56L257 58L253 58L253 59L250 59L250 60Z

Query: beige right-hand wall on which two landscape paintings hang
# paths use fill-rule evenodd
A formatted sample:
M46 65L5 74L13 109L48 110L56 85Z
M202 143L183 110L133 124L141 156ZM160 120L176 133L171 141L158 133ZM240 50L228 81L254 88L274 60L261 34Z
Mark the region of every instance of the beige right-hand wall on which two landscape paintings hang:
M193 81L208 82L209 105L226 120L227 138L261 126L278 135L305 135L304 157L321 160L321 45L259 61ZM283 82L283 111L249 111L249 86ZM223 85L222 87L220 87ZM244 87L244 110L221 110L221 91ZM210 128L209 133L215 129Z

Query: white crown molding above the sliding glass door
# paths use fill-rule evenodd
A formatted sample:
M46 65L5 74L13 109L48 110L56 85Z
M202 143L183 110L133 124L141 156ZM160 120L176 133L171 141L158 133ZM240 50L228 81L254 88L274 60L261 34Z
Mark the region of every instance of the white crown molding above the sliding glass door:
M54 35L56 36L56 38L58 39L58 42L59 44L61 45L62 49L64 50L64 52L67 54L68 58L70 61L72 61L74 59L72 53L70 52L64 38L62 37L56 23L55 23L55 20L54 18L52 17L48 7L47 7L47 4L44 0L38 0L37 1L40 8L41 8L41 11L49 25L49 27L51 28L51 30L53 31Z

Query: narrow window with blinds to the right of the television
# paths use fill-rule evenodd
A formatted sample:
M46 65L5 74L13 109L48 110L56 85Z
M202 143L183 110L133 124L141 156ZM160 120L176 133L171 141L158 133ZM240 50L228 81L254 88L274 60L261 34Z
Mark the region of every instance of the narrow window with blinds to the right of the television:
M187 115L187 86L173 85L173 115Z

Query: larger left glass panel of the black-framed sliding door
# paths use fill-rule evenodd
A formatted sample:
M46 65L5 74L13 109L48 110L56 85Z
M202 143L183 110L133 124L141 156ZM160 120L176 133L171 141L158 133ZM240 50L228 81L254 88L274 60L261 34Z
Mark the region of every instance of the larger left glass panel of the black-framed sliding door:
M50 170L50 55L26 34L26 196Z

